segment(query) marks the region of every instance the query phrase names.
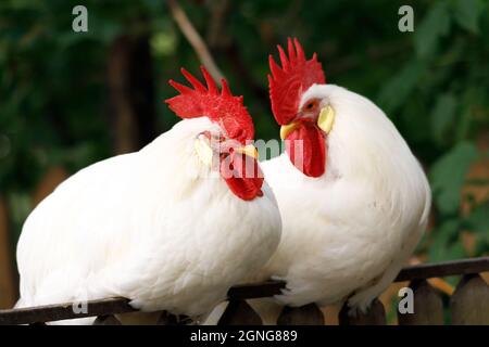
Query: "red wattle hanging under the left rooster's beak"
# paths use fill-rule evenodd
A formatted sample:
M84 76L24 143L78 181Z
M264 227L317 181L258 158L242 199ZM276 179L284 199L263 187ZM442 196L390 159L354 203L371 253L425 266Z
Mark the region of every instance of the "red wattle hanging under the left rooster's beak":
M230 191L239 198L250 201L263 195L263 172L253 157L233 152L221 162L220 170Z

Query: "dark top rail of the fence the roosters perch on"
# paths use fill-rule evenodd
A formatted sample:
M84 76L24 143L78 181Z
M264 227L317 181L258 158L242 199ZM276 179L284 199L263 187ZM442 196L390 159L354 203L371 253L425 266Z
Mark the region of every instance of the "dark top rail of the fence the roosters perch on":
M446 261L439 264L422 264L402 269L396 279L396 282L424 280L429 278L441 278L467 273L479 273L485 271L489 271L489 257ZM276 294L280 294L280 290L284 288L285 285L286 284L284 282L277 281L237 285L229 290L228 298L242 300L249 298L274 296ZM39 306L33 308L0 310L0 325L33 324L65 319L117 314L135 311L135 309L128 305L128 301L129 300L126 298L91 300L87 303L86 313L75 313L73 310L73 304L71 303Z

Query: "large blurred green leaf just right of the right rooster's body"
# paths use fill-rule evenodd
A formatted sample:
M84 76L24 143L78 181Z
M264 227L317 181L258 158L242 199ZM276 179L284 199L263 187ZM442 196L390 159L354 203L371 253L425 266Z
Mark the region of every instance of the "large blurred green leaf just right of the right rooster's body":
M471 164L477 158L476 146L461 142L440 157L430 171L435 203L442 214L455 214L460 206L461 189Z

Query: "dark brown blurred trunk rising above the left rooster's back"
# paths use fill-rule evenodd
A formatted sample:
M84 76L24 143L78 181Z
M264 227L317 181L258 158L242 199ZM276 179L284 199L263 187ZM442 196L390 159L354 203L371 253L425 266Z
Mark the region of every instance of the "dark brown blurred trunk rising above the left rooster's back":
M146 20L138 20L141 27ZM141 30L138 30L139 33ZM150 34L122 35L108 61L113 147L117 154L137 151L154 138L154 86Z

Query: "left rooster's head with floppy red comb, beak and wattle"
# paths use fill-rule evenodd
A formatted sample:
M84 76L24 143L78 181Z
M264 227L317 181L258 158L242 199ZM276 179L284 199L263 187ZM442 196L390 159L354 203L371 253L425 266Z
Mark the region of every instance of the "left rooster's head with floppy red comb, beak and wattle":
M206 86L181 68L181 74L193 88L170 80L179 94L167 99L170 108L180 118L208 117L216 131L198 134L195 146L199 158L220 171L230 191L250 201L262 196L263 174L258 164L258 152L251 144L254 127L243 106L242 97L231 94L225 79L222 90L208 70L201 67Z

